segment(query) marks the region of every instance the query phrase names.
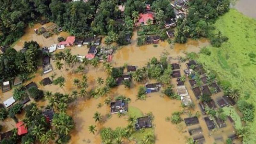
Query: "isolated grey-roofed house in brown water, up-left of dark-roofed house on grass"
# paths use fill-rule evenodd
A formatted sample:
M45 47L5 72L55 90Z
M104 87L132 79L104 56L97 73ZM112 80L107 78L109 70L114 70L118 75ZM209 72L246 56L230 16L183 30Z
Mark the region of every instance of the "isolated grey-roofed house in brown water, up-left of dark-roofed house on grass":
M110 103L110 113L125 113L128 111L128 103L125 100L116 100Z

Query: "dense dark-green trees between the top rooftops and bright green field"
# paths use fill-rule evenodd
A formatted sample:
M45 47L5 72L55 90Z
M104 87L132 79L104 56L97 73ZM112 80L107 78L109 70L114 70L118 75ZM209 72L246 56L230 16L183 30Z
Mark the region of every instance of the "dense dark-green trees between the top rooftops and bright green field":
M220 46L219 43L226 41L227 38L214 34L212 24L218 16L228 12L229 4L230 0L190 1L187 18L179 19L177 22L175 42L185 43L188 38L209 37L213 45Z

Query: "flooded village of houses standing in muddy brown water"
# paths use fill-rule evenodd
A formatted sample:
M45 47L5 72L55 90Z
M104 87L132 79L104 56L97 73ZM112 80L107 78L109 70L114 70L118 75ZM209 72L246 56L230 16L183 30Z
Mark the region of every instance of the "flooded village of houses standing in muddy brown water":
M172 5L175 7L179 2L175 1ZM186 9L185 6L182 8ZM179 10L176 15L185 16L186 10ZM140 18L142 17L144 16L141 15ZM36 23L33 27L27 27L25 34L11 47L16 51L23 51L25 42L36 41L40 50L47 54L40 58L42 59L38 62L40 65L36 72L30 75L30 79L19 83L16 82L17 78L14 78L2 84L1 108L8 109L17 103L28 105L36 102L37 107L42 109L44 116L49 119L49 123L52 123L53 114L59 109L49 109L50 102L46 98L46 92L52 92L52 94L60 92L70 96L74 91L79 93L82 88L77 86L75 81L78 79L82 82L86 76L87 88L84 92L86 96L77 96L67 103L66 112L74 121L69 144L107 144L101 138L101 130L126 128L130 124L131 117L135 118L134 132L129 138L122 138L122 144L140 144L146 132L153 132L156 144L185 144L189 143L189 140L192 140L189 144L226 144L228 139L233 144L241 144L242 140L236 135L235 127L242 125L240 120L242 114L237 112L238 119L234 119L233 115L230 116L237 111L236 102L225 95L216 77L211 77L211 72L206 71L200 63L187 56L189 53L199 53L201 49L210 45L209 39L188 39L185 44L174 43L175 26L172 26L174 21L173 19L165 21L165 26L168 28L166 34L171 41L169 43L156 35L145 37L140 35L141 26L138 22L135 23L136 27L132 35L128 36L129 44L122 46L116 43L108 45L106 36L95 35L82 38L72 36L62 31L53 22ZM53 33L54 29L59 31ZM41 31L49 34L43 35L43 32L39 34ZM59 37L63 37L64 40L60 41ZM143 44L138 44L140 38L145 40L142 40ZM67 50L70 50L70 54L78 59L71 66L64 59L58 60L56 56ZM97 66L92 64L95 58L99 58L100 63ZM154 63L152 60L155 58L157 64L161 63L161 59L166 58L167 64L172 66L169 82L160 83L159 79L152 77L137 81L133 76L134 73L138 69L152 67ZM85 59L91 61L91 64L83 65ZM63 64L61 68L57 62ZM121 76L115 77L116 86L111 87L109 92L93 95L93 92L97 93L98 89L103 89L105 83L107 85L107 79L111 75L106 69L107 64L111 66L111 72L114 68L121 68ZM82 65L83 68L81 68ZM78 70L79 67L80 70ZM160 67L163 68L163 65L160 64ZM59 77L65 79L61 86L53 82ZM99 82L99 78L102 78L102 82ZM130 85L127 86L124 81L129 81ZM14 90L20 85L24 85L26 89L37 87L45 93L44 98L36 101L31 97L24 101L14 100ZM140 99L138 95L142 88L145 89L145 98ZM175 98L167 96L165 91L168 88L171 89L172 96ZM120 97L124 98L117 99ZM222 109L227 112L225 116ZM94 118L96 112L101 115L100 122ZM20 125L10 117L1 121L1 139L7 138L8 136L4 133L15 128L18 129L18 135L27 133L19 134L20 129L27 131L21 124L26 118L24 110L16 114L16 118ZM179 122L176 123L174 120ZM95 131L92 133L88 128L94 125ZM53 140L50 143L54 143Z

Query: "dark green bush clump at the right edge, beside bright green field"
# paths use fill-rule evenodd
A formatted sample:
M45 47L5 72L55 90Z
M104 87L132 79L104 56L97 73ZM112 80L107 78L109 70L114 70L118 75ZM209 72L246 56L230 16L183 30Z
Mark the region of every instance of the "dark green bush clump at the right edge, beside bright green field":
M239 100L237 102L237 107L243 114L242 120L249 122L253 121L255 108L252 104L246 102L245 100Z

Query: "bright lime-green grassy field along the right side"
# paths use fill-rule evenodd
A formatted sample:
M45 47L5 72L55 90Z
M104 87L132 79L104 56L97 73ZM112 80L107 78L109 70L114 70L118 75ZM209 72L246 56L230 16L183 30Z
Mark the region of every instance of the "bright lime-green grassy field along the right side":
M231 9L216 23L216 32L227 36L220 48L209 46L210 56L200 54L198 61L206 69L214 70L221 82L230 83L240 91L241 98L256 107L256 20ZM255 114L256 116L256 114ZM249 125L251 134L246 144L256 143L256 118Z

